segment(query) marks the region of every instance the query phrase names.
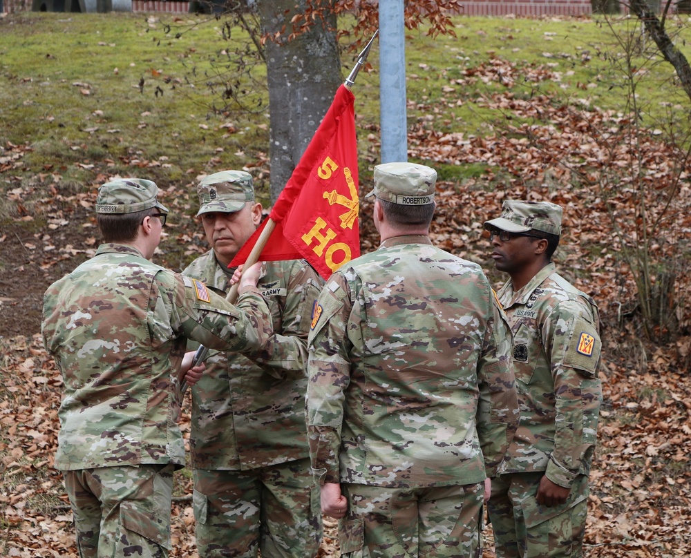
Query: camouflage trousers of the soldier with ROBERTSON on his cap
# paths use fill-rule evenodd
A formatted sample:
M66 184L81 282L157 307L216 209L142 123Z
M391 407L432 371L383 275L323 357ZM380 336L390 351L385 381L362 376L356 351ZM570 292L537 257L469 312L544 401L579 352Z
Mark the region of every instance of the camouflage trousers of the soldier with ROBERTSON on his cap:
M477 558L482 550L482 483L383 488L341 483L343 558Z

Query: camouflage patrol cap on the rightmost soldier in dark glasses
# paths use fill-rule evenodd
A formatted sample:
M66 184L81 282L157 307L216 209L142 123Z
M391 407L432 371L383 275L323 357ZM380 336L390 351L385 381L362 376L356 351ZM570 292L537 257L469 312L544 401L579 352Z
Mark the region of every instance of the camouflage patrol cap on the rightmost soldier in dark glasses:
M509 233L542 231L561 234L562 209L550 202L517 202L507 200L502 204L502 216L484 222L484 228L501 229Z

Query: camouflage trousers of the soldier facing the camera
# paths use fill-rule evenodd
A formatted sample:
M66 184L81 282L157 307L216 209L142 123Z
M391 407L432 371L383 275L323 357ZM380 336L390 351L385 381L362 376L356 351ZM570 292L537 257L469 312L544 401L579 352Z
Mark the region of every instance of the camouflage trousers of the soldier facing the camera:
M200 557L310 558L321 540L310 459L252 471L194 470Z

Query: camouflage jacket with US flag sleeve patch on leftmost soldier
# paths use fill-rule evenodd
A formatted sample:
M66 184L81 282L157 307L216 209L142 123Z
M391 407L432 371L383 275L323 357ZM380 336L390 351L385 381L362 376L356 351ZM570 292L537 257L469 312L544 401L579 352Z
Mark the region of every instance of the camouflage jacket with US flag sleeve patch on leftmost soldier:
M44 296L44 343L65 384L55 466L183 465L177 371L187 338L257 349L269 318L254 287L235 307L133 247L102 244Z

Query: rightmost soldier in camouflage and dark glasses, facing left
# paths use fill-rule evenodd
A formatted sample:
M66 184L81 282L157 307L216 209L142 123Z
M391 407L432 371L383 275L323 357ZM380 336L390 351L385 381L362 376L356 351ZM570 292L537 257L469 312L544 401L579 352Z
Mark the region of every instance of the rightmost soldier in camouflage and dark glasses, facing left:
M507 201L484 224L497 269L511 277L498 297L513 331L521 410L488 505L499 558L583 556L601 344L594 300L551 263L561 220L558 205Z

